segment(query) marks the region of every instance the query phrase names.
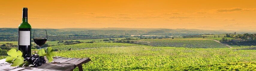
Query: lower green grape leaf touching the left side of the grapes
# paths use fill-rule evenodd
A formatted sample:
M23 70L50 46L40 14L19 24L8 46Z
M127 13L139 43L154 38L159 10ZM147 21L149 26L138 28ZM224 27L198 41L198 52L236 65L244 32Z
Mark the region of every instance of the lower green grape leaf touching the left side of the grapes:
M11 66L19 66L22 67L25 64L24 58L22 56L18 56L16 59L13 60L13 64Z

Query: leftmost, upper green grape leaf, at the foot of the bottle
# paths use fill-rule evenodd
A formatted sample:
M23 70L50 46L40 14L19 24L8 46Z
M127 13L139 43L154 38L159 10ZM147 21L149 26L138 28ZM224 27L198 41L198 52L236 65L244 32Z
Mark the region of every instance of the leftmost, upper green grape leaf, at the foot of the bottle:
M13 63L13 59L16 59L17 56L22 56L22 52L21 51L16 51L16 49L10 49L7 54L9 55L8 57L6 57L5 62L8 63Z

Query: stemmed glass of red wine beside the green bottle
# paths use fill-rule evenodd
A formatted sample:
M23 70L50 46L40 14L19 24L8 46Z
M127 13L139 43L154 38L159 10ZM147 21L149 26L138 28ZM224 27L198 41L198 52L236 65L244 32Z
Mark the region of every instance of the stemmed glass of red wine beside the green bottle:
M43 44L45 44L47 41L46 30L34 30L33 39L37 46L41 49Z

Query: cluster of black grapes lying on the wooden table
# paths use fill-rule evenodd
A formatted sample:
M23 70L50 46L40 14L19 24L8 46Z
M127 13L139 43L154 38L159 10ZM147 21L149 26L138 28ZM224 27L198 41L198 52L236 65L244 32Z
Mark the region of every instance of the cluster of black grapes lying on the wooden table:
M31 56L26 54L25 58L24 58L24 61L30 62L31 64L34 65L34 67L38 67L38 66L41 66L42 63L43 64L46 63L46 61L45 61L43 56L39 57L39 55L35 55L35 54L32 54Z

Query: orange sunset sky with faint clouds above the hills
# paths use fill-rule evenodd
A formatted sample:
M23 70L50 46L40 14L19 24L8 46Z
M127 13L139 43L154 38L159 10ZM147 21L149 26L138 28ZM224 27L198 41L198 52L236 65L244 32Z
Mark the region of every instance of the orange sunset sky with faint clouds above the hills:
M2 0L0 28L256 28L256 0Z

